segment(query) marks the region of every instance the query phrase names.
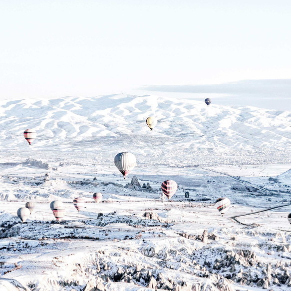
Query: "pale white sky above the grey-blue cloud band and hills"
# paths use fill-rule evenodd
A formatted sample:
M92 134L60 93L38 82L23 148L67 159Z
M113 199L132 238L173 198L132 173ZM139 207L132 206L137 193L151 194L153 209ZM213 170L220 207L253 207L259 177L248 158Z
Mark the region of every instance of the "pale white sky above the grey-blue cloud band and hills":
M0 0L0 99L291 78L290 0Z

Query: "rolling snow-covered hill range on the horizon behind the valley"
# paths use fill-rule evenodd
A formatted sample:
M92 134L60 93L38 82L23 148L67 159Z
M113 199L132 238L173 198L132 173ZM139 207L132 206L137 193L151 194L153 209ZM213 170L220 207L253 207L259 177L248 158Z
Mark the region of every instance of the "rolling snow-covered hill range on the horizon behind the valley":
M145 124L149 115L159 119L153 132ZM0 149L29 154L26 128L37 131L33 155L42 157L47 150L83 156L86 149L86 157L104 163L119 151L139 155L140 164L291 161L289 111L126 94L1 101Z

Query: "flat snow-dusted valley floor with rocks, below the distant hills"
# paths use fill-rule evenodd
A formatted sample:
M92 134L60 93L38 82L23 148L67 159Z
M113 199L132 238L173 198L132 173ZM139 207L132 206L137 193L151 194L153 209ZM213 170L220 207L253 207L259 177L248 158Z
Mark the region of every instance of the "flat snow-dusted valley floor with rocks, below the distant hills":
M291 203L289 184L269 180L291 165L136 167L123 180L114 166L88 161L48 170L17 157L1 162L1 291L291 287L291 206L256 213ZM133 175L152 190L125 188ZM160 197L166 179L179 185L170 201ZM103 193L99 204L94 192ZM78 196L86 202L79 213ZM214 203L224 196L232 206L222 217ZM52 200L65 205L60 223ZM35 209L21 223L26 201Z

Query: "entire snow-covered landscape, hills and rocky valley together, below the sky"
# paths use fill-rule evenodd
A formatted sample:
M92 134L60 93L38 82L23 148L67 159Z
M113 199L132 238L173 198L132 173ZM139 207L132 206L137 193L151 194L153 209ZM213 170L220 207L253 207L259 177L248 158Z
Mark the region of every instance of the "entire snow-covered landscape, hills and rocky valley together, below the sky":
M291 112L122 94L1 101L0 114L1 291L290 289L291 206L256 212L291 203ZM127 180L113 163L123 151L137 159ZM151 188L126 186L134 175Z

